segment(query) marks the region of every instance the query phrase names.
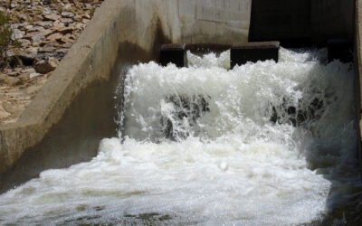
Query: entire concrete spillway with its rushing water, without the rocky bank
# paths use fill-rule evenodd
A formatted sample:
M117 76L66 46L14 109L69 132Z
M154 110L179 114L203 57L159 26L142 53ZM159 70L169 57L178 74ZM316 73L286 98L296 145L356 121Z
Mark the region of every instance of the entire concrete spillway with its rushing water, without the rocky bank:
M106 0L0 127L0 224L361 224L361 7Z

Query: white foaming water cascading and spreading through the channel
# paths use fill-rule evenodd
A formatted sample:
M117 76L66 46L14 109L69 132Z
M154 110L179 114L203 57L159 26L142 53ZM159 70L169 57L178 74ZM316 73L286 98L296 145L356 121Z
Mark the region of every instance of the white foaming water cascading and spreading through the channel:
M2 194L0 224L295 225L361 196L352 65L229 57L130 68L119 137Z

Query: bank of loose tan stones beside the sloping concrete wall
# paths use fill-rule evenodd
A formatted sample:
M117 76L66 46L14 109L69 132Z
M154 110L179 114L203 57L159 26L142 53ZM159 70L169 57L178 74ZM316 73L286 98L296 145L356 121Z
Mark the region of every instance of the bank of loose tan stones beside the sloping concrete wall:
M20 117L103 1L0 0L16 42L0 70L0 125Z

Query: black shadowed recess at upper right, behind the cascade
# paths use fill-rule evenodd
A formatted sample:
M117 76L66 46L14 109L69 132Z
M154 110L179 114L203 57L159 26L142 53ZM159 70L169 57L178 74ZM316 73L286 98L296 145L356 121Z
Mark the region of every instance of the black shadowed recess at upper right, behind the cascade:
M250 41L353 42L355 0L253 0Z

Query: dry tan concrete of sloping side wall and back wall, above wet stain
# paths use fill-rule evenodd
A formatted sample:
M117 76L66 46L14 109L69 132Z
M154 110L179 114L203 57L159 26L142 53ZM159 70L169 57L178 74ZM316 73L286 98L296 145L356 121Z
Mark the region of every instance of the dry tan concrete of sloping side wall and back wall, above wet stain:
M247 40L251 0L107 0L14 124L0 127L0 174L39 144L73 99L109 80L122 43L157 59L161 43Z

